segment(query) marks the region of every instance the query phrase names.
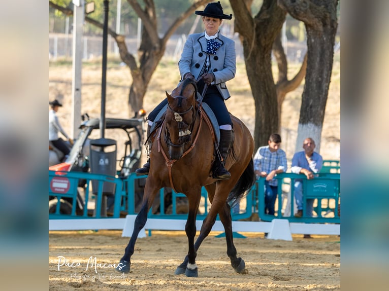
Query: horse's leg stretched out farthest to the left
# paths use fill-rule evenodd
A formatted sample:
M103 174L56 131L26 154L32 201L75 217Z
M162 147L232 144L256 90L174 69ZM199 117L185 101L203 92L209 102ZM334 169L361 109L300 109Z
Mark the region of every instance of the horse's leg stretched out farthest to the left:
M150 192L147 191L147 183L146 183L145 195L143 196L142 207L135 219L133 234L131 235L131 239L129 240L127 246L124 249L123 257L120 259L120 262L116 267L116 270L120 273L129 273L129 269L131 266L131 256L134 254L134 249L135 249L135 242L137 241L139 232L144 228L147 222L147 213L153 204L157 192L158 189L153 189L151 191L151 194L147 195Z

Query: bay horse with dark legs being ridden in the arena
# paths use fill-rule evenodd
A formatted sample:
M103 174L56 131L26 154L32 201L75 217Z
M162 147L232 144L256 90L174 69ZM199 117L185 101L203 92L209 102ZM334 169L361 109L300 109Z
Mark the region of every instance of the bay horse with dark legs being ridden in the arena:
M188 277L198 276L196 265L197 250L210 233L219 214L225 231L227 254L237 273L247 273L245 263L237 257L233 242L231 208L229 202L239 201L255 181L252 154L254 141L248 128L231 115L235 140L226 159L225 168L231 173L227 180L212 178L211 166L214 160L214 132L205 122L205 116L196 100L197 84L184 80L170 95L166 92L168 107L165 120L156 131L150 134L154 139L150 149L150 170L146 179L141 210L134 231L124 255L116 268L128 273L135 242L147 221L147 213L155 195L163 187L171 187L185 194L188 199L188 217L185 232L188 238L188 253L175 274ZM155 141L157 139L157 141ZM196 236L196 216L201 200L201 188L204 186L211 202L208 215L203 221L200 235Z

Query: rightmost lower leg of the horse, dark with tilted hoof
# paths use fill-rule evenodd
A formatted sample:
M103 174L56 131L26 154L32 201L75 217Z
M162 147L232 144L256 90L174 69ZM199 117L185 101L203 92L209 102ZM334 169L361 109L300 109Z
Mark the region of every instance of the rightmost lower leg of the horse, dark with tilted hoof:
M230 258L231 266L234 268L235 272L241 274L248 274L248 270L245 268L245 263L242 258L237 257L236 248L233 240L233 230L232 230L232 218L231 218L231 208L227 203L224 204L222 209L219 211L220 221L223 224L225 232L225 240L227 243L227 255Z

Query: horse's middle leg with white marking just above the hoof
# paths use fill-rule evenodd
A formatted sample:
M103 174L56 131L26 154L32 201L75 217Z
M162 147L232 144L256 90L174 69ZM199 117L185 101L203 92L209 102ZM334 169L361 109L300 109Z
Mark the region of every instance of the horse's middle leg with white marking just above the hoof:
M198 277L198 267L196 264L197 248L195 248L196 236L196 216L200 205L201 189L198 192L193 192L188 197L188 218L185 225L185 233L188 238L188 254L184 262L179 265L174 272L176 275L184 274L187 277Z

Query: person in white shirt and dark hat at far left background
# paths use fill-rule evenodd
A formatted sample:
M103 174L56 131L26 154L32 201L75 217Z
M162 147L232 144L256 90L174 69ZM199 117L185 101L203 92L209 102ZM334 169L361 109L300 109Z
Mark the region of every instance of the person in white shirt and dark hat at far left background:
M66 139L69 140L71 144L73 144L72 138L68 136L68 134L63 130L62 126L59 124L59 120L57 117L58 108L62 106L61 103L58 102L57 99L50 101L49 105L51 105L51 110L49 111L49 141L57 148L59 151L63 153L64 156L69 155L70 150L68 145L64 142L64 140L58 137L58 131L62 133Z

